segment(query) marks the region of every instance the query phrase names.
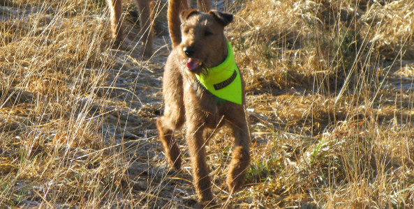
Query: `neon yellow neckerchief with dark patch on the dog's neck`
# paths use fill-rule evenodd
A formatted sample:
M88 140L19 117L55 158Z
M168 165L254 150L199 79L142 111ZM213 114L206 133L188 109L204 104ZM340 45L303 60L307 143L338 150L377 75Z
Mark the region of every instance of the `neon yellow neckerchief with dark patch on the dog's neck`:
M198 82L218 98L242 104L242 79L235 62L232 46L227 42L227 58L206 74L195 75Z

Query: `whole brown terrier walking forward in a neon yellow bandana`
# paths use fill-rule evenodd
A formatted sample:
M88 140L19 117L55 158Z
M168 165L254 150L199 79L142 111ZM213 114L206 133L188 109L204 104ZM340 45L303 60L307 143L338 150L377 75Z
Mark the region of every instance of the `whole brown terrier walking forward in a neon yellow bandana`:
M212 183L205 160L205 130L223 124L232 130L235 148L227 177L230 192L244 185L246 168L250 162L250 134L244 109L244 82L239 71L229 71L232 73L227 77L219 77L224 82L214 84L219 90L213 91L217 93L220 88L239 82L239 92L235 93L239 97L239 104L218 98L198 79L209 79L216 74L216 71L210 71L216 69L212 67L228 61L231 47L224 36L224 27L232 22L232 15L217 10L202 13L186 8L185 0L169 1L168 24L173 49L163 76L164 112L156 125L168 161L175 169L180 169L182 160L173 132L186 123L193 183L199 206L204 207L213 204Z

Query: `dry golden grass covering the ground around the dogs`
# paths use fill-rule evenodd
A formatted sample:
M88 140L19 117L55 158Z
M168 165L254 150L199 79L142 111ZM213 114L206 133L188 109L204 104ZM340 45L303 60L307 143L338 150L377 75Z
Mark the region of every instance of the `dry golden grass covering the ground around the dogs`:
M111 49L105 1L0 0L1 208L193 208L188 154L156 139L170 42ZM414 2L219 1L248 84L253 162L229 197L227 130L207 147L227 208L414 207ZM136 9L124 7L135 38ZM140 47L140 45L138 45ZM182 134L182 150L186 152Z

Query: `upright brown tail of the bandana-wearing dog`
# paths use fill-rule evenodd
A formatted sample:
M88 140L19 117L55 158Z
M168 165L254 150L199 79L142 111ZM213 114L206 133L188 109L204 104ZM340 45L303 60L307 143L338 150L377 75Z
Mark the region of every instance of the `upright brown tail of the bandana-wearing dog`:
M172 40L172 47L179 45L181 42L181 20L179 14L182 10L188 9L187 0L169 0L168 1L168 30Z

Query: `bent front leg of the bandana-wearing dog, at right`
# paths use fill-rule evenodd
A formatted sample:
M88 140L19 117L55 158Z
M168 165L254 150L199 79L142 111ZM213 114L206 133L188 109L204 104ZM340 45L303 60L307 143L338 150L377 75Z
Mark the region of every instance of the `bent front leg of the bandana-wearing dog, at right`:
M235 147L228 169L227 185L230 191L236 191L244 185L246 169L249 167L250 132L244 108L239 106L232 110L234 112L228 115L232 116L232 118L229 118L229 123L235 138Z

